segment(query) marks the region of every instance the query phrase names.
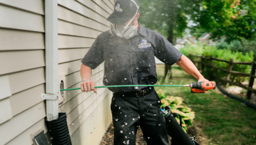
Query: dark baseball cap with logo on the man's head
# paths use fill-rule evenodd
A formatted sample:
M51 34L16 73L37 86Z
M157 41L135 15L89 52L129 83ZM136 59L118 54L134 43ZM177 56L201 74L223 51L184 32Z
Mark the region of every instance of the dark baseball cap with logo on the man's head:
M134 2L139 6L138 0L134 0ZM115 8L112 14L107 18L107 21L118 25L122 25L129 21L129 19L133 18L137 12L137 6L134 2L131 0L117 0Z

